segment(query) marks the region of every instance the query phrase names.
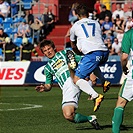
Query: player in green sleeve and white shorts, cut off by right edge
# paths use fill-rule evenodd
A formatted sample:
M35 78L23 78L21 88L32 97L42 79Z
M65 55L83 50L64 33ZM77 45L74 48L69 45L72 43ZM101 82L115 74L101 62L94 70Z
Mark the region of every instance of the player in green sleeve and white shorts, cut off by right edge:
M130 70L127 68L128 58L130 56ZM124 108L126 104L133 100L133 29L124 33L122 40L121 65L123 72L127 75L121 86L114 115L112 118L112 132L120 133L120 126L123 121Z

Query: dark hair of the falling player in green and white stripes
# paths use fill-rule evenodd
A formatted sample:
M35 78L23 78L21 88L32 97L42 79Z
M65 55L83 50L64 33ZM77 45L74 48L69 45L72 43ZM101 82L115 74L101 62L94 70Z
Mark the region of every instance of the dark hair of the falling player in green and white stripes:
M52 40L43 39L39 43L39 48L40 48L42 53L43 53L42 48L45 47L45 46L51 46L53 49L55 49L55 45L54 45L54 42Z

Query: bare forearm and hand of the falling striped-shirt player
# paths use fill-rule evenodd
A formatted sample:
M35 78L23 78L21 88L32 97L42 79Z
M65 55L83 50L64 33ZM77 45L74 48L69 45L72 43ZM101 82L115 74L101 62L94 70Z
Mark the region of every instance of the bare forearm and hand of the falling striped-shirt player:
M41 85L35 87L35 90L37 92L50 91L51 89L52 89L51 84L41 84Z

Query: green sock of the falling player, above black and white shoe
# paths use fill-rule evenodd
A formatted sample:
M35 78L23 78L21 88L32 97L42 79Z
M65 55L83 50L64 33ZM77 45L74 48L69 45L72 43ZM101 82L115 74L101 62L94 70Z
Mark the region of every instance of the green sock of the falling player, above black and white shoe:
M74 122L75 123L84 123L84 122L88 122L91 119L92 119L91 116L84 116L84 115L79 114L79 113L76 113L74 116Z

